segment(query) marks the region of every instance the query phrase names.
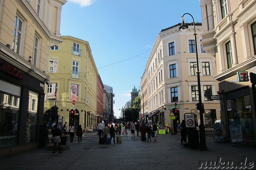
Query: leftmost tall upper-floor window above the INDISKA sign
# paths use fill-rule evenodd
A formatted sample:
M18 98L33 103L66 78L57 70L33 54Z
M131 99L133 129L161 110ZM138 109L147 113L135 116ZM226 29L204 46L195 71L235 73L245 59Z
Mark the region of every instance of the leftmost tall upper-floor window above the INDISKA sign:
M21 35L22 35L22 21L16 16L13 31L12 51L21 55Z

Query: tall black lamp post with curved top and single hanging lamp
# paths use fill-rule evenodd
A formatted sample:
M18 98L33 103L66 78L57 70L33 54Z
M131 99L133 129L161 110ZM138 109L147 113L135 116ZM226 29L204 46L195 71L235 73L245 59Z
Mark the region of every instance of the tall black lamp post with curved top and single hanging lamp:
M197 52L197 41L196 41L196 26L195 26L195 20L193 18L193 16L190 13L185 13L182 16L182 24L179 27L181 29L182 32L185 32L188 28L188 26L185 24L184 22L184 15L190 15L193 19L193 24L194 24L194 33L193 35L195 35L195 46L196 46L196 65L197 65L197 86L198 86L198 97L199 97L199 111L200 111L200 125L199 125L199 133L200 133L200 151L207 151L207 147L206 147L206 141L205 141L205 127L204 127L204 108L202 107L202 94L201 94L201 83L200 83L200 71L199 71L199 63L198 63L198 52Z

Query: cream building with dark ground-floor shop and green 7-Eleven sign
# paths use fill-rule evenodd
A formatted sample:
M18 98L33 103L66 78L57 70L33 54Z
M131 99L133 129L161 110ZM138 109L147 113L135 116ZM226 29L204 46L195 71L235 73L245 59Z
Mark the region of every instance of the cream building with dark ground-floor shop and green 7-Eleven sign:
M219 84L225 141L232 140L230 128L240 125L244 144L256 146L256 0L200 0L200 7L206 18L201 43L216 58L213 78ZM245 71L242 81L239 71Z

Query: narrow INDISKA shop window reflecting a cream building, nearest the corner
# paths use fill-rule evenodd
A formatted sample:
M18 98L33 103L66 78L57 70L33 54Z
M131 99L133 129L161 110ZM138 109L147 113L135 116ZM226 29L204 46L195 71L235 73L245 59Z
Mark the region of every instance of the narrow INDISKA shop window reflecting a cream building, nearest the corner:
M36 142L38 94L29 91L26 143Z

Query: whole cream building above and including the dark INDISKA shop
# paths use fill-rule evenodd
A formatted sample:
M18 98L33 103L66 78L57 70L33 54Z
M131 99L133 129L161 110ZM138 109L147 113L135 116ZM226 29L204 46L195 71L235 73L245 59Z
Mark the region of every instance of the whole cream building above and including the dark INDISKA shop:
M45 71L66 2L0 0L0 159L44 146Z

